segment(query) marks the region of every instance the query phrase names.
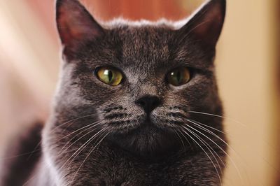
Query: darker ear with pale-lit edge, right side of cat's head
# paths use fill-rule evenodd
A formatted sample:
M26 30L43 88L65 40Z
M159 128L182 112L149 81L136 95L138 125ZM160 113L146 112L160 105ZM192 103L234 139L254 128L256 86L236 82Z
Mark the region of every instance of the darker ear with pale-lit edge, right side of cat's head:
M225 20L225 0L210 0L204 3L179 29L183 38L194 37L205 48L215 48Z

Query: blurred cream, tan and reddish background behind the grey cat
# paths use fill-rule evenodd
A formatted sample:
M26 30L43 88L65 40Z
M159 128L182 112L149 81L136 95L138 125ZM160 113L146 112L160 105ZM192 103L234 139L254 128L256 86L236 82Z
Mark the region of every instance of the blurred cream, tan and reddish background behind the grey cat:
M97 20L180 20L202 0L81 0ZM0 148L45 120L59 71L53 0L0 0ZM224 185L280 185L279 0L228 1L216 66L230 158Z

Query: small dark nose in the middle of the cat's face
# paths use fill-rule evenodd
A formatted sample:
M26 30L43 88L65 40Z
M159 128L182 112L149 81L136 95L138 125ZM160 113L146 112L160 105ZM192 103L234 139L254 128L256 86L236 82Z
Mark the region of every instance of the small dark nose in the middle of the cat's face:
M135 103L143 108L146 113L151 113L153 109L160 105L161 101L158 96L144 96L135 101Z

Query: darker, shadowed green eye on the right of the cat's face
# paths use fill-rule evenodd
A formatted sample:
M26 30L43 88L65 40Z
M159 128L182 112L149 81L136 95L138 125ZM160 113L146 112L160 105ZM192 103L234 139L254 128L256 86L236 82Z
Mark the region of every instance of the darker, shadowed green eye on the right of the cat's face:
M171 85L181 86L190 80L190 71L186 67L174 69L167 74L167 81Z

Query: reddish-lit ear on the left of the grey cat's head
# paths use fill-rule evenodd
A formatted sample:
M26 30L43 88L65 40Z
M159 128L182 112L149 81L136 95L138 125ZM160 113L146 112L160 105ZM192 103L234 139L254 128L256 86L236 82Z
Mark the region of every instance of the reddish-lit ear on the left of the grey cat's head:
M104 29L77 0L57 0L56 21L66 56L71 56L80 45L104 33Z

